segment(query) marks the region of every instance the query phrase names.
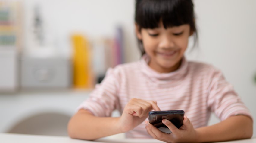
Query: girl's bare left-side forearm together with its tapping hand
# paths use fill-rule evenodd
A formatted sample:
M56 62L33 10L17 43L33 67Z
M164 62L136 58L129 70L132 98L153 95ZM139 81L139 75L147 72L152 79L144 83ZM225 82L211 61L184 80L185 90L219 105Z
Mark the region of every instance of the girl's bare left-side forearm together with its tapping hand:
M80 109L69 121L68 134L71 138L94 140L132 130L148 118L148 112L160 110L156 101L131 99L124 107L121 117L97 117Z

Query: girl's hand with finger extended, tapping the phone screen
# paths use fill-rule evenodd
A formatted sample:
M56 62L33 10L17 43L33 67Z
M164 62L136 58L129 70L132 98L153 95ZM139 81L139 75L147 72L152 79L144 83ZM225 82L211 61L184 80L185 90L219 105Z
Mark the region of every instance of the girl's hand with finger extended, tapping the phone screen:
M132 130L148 118L148 112L152 109L159 111L156 101L146 101L133 98L124 107L119 124L123 132Z

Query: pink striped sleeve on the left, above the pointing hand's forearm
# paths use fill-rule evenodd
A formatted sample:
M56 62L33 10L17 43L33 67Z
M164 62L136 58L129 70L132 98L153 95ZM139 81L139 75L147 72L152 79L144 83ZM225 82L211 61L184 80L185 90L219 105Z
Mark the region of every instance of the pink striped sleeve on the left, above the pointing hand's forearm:
M108 69L104 80L95 86L89 98L80 104L77 110L86 109L99 117L111 116L112 111L119 108L117 72L117 70Z

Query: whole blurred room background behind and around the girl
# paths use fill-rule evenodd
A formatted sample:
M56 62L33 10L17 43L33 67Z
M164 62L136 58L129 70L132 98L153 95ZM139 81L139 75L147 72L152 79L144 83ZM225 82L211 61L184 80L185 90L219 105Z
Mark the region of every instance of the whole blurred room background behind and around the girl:
M134 4L0 0L0 133L67 136L69 118L106 70L139 60ZM194 4L199 41L191 50L191 37L186 57L219 68L255 119L256 1ZM213 114L209 125L218 121Z

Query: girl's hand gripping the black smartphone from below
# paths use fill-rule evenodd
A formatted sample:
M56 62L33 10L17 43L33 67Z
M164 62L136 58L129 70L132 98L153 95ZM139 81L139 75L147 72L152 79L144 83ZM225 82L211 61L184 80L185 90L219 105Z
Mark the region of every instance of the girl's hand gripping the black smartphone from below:
M172 133L167 134L161 132L148 121L145 121L148 134L153 138L164 142L196 142L196 131L187 116L184 117L183 126L181 126L180 129L175 127L169 120L164 119L162 122L172 131Z

